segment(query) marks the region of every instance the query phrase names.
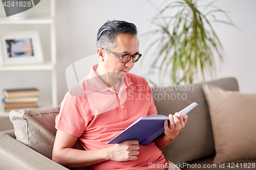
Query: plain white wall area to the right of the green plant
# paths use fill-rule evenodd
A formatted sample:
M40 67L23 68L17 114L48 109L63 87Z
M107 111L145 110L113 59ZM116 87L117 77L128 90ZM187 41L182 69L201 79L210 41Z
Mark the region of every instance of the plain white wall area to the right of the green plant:
M215 27L227 58L218 77L236 77L241 92L256 93L256 1L220 1L218 6L229 11L233 23L242 30L221 24Z

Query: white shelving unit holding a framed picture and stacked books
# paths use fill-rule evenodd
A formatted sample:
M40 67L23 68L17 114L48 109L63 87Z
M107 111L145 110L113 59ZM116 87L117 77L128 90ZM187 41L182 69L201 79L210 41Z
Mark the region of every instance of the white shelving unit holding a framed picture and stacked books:
M55 31L55 0L50 0L50 14L29 16L23 20L11 20L8 17L0 17L0 27L5 25L49 25L51 43L51 61L34 65L0 66L0 71L51 71L52 106L57 105L57 79L56 79L56 31ZM17 31L19 31L17 29ZM1 34L1 33L0 33ZM0 89L3 91L3 89ZM44 102L43 102L44 103ZM49 107L49 104L40 107ZM9 117L9 112L4 112L0 107L0 117Z

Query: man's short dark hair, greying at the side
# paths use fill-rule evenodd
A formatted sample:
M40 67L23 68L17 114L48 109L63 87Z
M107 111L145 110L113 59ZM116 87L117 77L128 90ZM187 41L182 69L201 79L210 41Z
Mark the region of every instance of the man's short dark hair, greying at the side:
M119 20L106 21L98 31L96 42L97 48L111 50L117 45L116 36L124 33L136 36L137 28L134 23Z

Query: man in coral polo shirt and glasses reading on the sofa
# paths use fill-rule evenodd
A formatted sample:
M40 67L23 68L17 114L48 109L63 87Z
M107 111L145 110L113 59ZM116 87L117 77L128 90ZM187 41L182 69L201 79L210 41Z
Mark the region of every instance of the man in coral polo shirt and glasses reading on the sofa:
M52 159L70 168L166 168L160 165L171 162L159 149L179 134L187 115L170 114L170 125L166 120L164 134L147 145L140 145L137 140L105 144L139 117L157 114L145 79L129 73L141 57L136 26L125 21L105 22L97 35L97 56L99 64L92 66L88 77L61 103ZM73 149L77 139L85 151Z

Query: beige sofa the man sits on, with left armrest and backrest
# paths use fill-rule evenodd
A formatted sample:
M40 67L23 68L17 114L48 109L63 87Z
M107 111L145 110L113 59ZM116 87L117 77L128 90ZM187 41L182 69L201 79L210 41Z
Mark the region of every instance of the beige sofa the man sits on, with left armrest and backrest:
M232 91L239 90L234 78L211 81L208 84ZM202 84L153 87L152 95L158 114L175 113L193 102L199 104L188 113L187 124L177 138L162 149L165 157L178 165L185 162L189 164L183 164L181 169L202 169L204 164L208 167L213 164L216 155L215 140ZM0 133L0 169L67 169L51 160L56 134L55 116L58 113L59 106L12 111L10 119L15 133L14 130ZM246 163L256 163L256 160L248 161ZM196 168L199 165L201 168ZM217 168L212 169L230 169L228 164L224 168L219 166L217 164Z

